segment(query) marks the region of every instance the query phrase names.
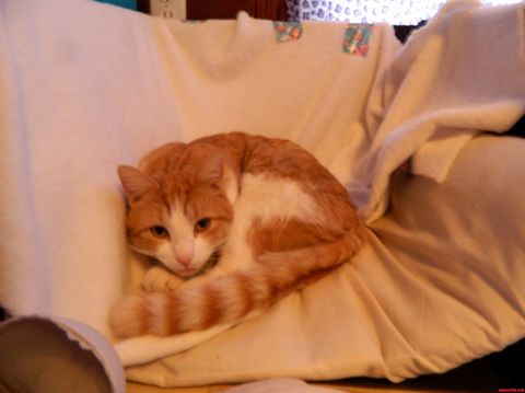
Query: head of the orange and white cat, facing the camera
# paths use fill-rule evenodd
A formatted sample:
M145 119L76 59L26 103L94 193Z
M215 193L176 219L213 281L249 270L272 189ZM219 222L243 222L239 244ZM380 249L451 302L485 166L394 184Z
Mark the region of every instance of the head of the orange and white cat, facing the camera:
M170 143L140 169L121 165L128 242L180 277L197 275L225 243L236 174L212 146Z

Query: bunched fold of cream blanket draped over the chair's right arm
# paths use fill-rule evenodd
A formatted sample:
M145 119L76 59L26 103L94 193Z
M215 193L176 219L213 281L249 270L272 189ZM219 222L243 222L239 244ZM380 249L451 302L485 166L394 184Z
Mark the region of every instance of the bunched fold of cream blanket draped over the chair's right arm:
M408 157L417 174L442 182L468 136L504 132L523 115L524 30L523 4L494 8L472 0L447 3L412 33L387 72L387 108L361 210L368 222L384 213L387 204L380 199L388 194L389 174ZM440 135L454 130L463 136L450 138L447 151ZM399 134L410 136L385 143Z

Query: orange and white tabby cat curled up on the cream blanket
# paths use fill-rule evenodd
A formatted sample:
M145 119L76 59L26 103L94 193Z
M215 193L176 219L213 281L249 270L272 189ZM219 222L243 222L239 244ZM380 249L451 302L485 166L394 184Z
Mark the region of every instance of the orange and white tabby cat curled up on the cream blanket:
M365 242L346 188L288 140L235 131L173 142L118 174L130 246L167 267L113 308L120 339L237 322Z

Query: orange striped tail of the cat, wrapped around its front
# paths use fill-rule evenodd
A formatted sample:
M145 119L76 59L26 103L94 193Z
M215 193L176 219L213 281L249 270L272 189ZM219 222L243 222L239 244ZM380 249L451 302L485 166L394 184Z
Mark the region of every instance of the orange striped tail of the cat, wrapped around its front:
M364 238L364 229L354 228L330 243L262 254L253 267L212 281L188 281L174 292L125 298L112 311L113 332L118 338L168 336L240 321L325 276L348 261Z

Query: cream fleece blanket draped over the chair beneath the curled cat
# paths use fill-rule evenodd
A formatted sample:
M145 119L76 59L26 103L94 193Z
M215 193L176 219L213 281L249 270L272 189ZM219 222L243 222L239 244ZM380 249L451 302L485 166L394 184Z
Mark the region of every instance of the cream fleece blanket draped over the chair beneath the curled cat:
M469 138L503 131L524 112L523 24L521 5L457 1L401 49L386 25L282 25L243 13L183 23L83 0L0 2L0 303L14 314L78 320L109 337L110 305L141 275L125 243L115 167L165 141L231 129L292 139L348 186L369 222L384 213L389 176L408 158L417 173L446 183ZM482 185L466 184L472 195L460 192L471 204ZM517 180L502 184L520 196ZM411 198L420 204L420 195ZM480 217L499 203L483 200L476 201ZM420 215L434 219L435 231L444 228ZM523 235L515 220L510 226ZM128 375L179 385L281 375L399 380L444 371L525 334L515 289L523 247L509 254L500 232L470 231L463 235L472 248L452 247L443 266L425 252L442 251L433 228L427 243L417 241L418 227L402 232L410 247L400 254L390 231L377 230L353 264L258 319L222 334L119 344L127 366L192 348ZM472 251L482 245L491 258ZM472 253L480 265L469 270ZM427 276L421 264L451 282ZM464 268L456 276L450 266ZM436 320L447 328L436 330ZM425 330L430 343L421 342Z

